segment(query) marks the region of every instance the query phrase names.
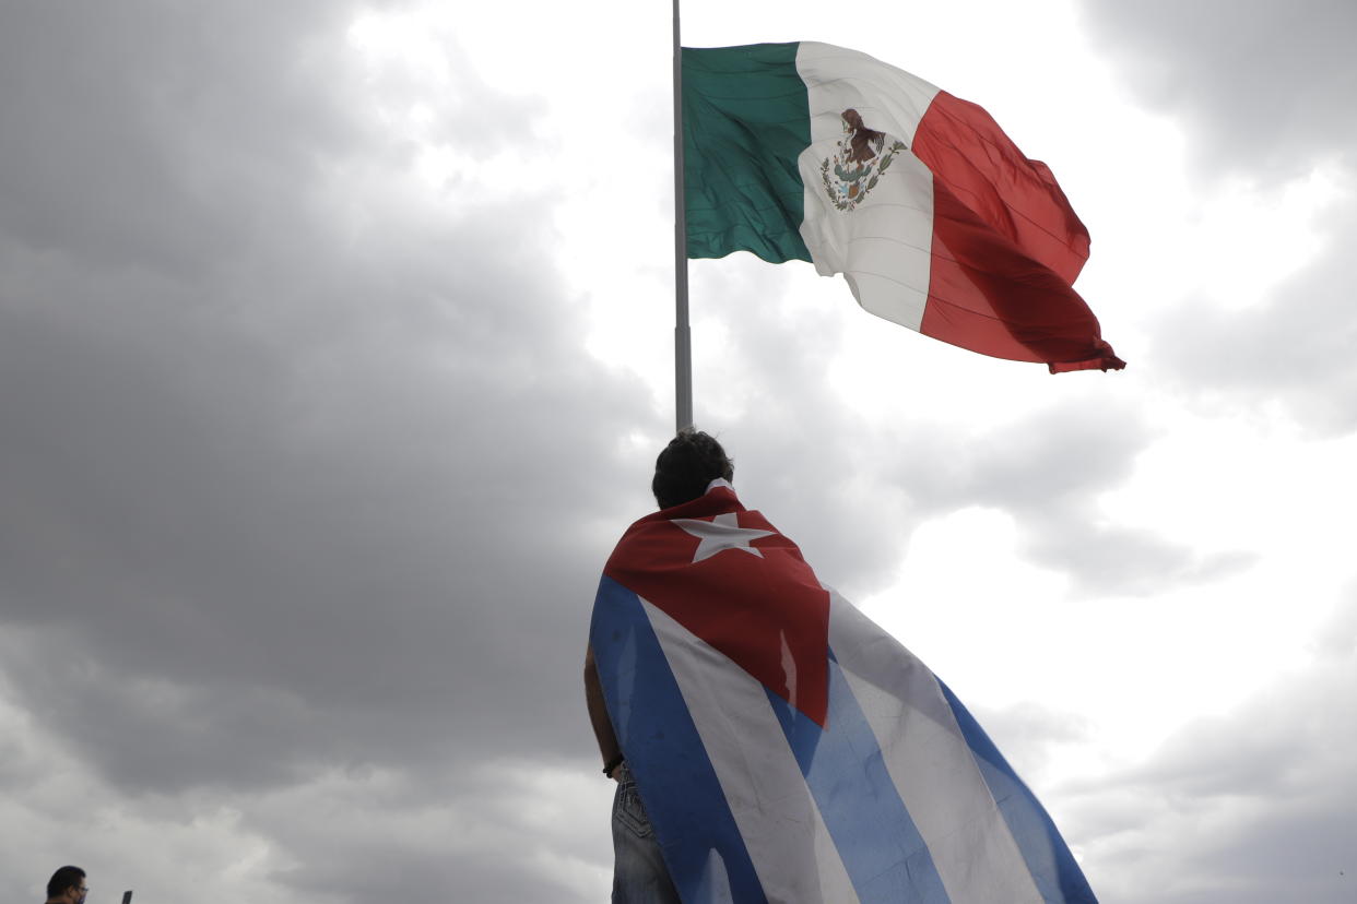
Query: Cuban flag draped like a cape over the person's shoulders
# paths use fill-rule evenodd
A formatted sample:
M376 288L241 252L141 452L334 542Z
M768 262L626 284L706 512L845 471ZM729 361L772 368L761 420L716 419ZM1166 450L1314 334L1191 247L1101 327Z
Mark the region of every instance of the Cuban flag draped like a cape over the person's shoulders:
M729 482L627 530L590 642L688 904L1096 900L947 686Z

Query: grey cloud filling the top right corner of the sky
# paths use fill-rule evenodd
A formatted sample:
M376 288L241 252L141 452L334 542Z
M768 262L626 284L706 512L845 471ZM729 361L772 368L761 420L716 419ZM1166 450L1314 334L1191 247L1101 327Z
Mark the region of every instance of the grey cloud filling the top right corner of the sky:
M1172 112L1210 173L1288 178L1357 159L1357 7L1348 0L1084 0L1133 98Z

